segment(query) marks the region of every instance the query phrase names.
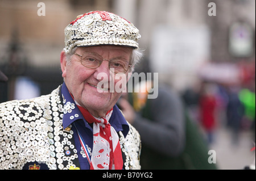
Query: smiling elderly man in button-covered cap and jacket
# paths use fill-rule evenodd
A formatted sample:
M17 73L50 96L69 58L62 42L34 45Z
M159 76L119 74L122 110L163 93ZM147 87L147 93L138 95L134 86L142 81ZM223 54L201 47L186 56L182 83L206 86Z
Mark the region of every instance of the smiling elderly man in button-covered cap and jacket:
M139 31L106 11L65 28L63 85L0 104L0 169L140 169L141 140L115 103L142 56Z

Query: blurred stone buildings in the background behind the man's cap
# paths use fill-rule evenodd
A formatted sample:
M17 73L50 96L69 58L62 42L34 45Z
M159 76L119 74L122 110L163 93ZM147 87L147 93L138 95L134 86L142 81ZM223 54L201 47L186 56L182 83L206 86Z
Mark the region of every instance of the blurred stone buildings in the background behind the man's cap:
M59 85L64 28L77 15L93 10L112 11L133 22L141 31L139 43L145 50L138 69L149 64L151 71L159 73L160 81L178 91L196 83L197 71L208 62L255 62L254 0L41 2L46 6L45 16L38 15L39 1L0 0L0 69L10 81L0 83L1 90L9 94L0 102L14 98L10 89L19 76L38 83L41 94ZM209 15L210 2L216 5L216 15Z

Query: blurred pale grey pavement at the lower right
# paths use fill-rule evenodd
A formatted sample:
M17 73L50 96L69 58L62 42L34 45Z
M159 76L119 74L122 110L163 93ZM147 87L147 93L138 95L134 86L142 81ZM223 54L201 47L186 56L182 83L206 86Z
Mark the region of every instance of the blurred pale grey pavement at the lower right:
M215 132L215 141L209 146L216 151L216 164L220 170L241 170L245 166L255 164L254 134L250 130L240 132L237 144L232 142L232 133L229 129L218 128Z

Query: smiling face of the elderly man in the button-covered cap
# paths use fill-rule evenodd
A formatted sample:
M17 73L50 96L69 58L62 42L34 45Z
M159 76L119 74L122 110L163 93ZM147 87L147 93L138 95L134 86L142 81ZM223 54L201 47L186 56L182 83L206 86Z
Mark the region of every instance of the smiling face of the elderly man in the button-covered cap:
M80 47L76 49L76 53L80 55L84 52L97 53L105 60L122 57L122 59L130 62L132 50L132 48L104 45ZM76 54L71 57L71 64L67 64L64 52L61 52L60 59L62 76L76 102L86 108L93 116L105 116L105 113L114 106L122 94L116 90L110 91L110 86L116 85L117 82L119 84L120 81L126 85L130 69L123 74L125 78L119 80L115 79L117 75L109 70L109 61L102 61L98 68L90 69L81 64L81 57ZM104 88L108 88L108 91L99 91L99 86L103 88L103 85Z

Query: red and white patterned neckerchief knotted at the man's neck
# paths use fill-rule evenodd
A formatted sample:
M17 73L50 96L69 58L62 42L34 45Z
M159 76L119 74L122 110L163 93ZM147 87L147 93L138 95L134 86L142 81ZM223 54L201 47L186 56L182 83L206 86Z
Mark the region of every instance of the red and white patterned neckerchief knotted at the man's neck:
M123 159L119 137L115 129L109 124L113 108L106 113L105 117L98 118L90 114L77 102L76 104L85 120L88 123L93 123L93 149L90 170L121 170Z

